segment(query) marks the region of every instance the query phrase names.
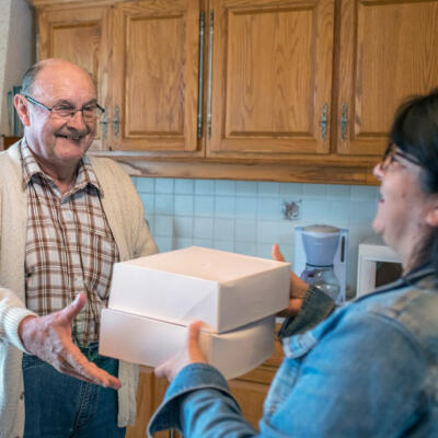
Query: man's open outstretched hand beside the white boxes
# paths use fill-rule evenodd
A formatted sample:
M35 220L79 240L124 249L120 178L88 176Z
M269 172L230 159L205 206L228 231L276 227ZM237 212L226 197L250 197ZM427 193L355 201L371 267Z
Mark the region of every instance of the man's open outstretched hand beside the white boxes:
M117 390L120 381L87 360L71 339L71 324L85 304L85 296L46 316L27 316L19 325L24 348L55 367L59 372L85 382Z

